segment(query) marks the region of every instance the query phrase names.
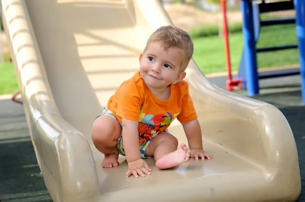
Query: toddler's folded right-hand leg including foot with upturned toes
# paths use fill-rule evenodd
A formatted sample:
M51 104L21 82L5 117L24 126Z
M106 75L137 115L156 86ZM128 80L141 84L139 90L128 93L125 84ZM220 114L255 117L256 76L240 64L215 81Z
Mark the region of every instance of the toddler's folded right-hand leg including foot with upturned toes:
M185 144L178 147L178 140L168 132L162 132L151 140L145 155L153 156L158 169L169 169L185 163L190 158L190 151Z

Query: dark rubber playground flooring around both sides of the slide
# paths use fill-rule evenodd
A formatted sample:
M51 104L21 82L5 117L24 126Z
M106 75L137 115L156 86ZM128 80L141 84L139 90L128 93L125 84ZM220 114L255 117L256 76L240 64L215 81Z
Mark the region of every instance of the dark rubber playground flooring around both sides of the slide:
M209 78L224 88L224 77ZM301 103L299 76L260 81L261 94L253 98L278 107L287 118L297 145L302 191L305 201L305 106ZM235 93L246 95L245 91ZM52 201L36 160L23 106L0 99L0 201Z

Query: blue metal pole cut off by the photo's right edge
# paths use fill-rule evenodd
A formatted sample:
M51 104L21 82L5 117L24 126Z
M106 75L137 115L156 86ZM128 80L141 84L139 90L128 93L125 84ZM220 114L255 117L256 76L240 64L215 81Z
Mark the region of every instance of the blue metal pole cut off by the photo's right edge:
M294 0L296 11L296 35L298 40L298 53L301 75L302 102L305 104L305 1Z

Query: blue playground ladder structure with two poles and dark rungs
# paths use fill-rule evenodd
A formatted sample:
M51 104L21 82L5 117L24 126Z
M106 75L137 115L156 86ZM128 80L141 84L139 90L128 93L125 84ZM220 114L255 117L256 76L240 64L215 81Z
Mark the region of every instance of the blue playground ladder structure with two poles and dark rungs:
M242 33L244 46L237 77L241 78L243 88L247 88L248 96L259 93L259 79L300 74L302 102L305 104L305 15L301 13L305 10L305 1L288 0L267 3L266 0L241 0L240 9L243 18ZM260 18L261 13L282 10L295 10L295 17L267 20ZM256 47L262 26L293 23L296 24L297 44ZM298 49L300 67L292 66L289 69L258 72L257 53L286 49Z

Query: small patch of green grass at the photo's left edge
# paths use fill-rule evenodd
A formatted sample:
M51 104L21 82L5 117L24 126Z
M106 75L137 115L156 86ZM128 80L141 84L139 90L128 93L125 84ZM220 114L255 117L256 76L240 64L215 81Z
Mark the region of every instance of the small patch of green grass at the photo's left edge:
M0 64L0 94L19 91L14 66L11 62Z

